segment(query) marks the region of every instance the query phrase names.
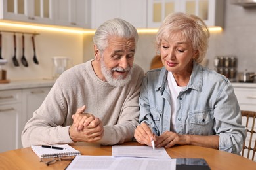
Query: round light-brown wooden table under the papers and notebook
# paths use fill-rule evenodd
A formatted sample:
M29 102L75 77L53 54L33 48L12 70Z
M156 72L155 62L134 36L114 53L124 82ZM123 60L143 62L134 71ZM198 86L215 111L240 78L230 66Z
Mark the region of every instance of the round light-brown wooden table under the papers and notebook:
M140 145L136 142L124 145ZM111 146L99 144L75 143L72 146L82 155L112 155ZM171 158L204 158L211 169L256 169L256 162L236 154L230 154L211 148L199 146L174 146L166 149ZM57 161L53 165L45 165L31 148L22 148L0 153L0 169L64 169L69 161Z

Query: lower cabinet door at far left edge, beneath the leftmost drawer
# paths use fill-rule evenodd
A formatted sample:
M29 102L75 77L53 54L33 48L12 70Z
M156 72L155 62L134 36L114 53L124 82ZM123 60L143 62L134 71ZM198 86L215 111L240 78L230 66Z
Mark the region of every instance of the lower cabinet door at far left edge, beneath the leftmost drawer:
M22 148L20 135L22 106L21 103L0 105L0 152Z

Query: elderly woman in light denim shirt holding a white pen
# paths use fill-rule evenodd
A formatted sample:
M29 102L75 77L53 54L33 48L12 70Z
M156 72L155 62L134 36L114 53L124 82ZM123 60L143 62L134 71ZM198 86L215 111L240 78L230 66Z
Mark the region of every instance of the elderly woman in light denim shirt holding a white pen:
M148 71L142 83L135 129L139 143L191 144L240 154L246 132L232 84L200 65L208 38L207 25L192 14L170 14L163 21L156 50L164 67Z

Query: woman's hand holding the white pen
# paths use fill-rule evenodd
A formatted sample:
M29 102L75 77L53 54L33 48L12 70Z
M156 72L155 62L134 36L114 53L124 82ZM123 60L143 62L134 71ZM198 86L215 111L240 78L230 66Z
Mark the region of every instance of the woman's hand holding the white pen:
M150 127L146 123L142 123L136 127L134 137L140 144L146 144L148 146L152 146L151 141L155 139L155 135L152 134Z

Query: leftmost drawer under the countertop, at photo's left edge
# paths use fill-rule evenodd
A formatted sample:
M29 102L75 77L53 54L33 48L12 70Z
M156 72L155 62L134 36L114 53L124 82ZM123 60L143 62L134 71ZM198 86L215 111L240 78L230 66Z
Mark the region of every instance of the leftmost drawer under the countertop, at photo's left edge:
M19 103L22 101L22 90L0 91L0 105Z

